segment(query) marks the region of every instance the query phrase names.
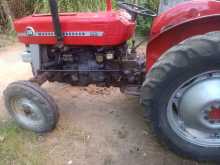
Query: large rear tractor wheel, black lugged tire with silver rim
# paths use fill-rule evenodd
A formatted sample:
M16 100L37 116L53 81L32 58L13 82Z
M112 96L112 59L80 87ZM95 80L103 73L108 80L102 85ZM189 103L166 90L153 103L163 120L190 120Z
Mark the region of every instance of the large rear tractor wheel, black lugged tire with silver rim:
M220 161L220 32L189 38L162 55L141 99L156 135L172 151Z

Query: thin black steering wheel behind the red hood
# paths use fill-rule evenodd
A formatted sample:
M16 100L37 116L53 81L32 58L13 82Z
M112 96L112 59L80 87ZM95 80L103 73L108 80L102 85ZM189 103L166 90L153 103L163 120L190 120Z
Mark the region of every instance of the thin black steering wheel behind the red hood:
M151 16L155 17L157 16L157 13L151 9L144 8L142 6L138 6L132 3L127 2L118 2L118 6L122 9L127 10L132 15L141 15L143 17Z

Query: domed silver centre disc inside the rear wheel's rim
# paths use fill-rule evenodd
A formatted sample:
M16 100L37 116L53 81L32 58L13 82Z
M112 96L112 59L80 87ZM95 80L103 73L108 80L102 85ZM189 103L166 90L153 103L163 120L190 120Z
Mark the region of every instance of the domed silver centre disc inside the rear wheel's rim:
M211 77L185 89L179 104L188 127L208 132L220 129L220 124L215 122L217 119L213 119L217 107L220 107L220 79Z

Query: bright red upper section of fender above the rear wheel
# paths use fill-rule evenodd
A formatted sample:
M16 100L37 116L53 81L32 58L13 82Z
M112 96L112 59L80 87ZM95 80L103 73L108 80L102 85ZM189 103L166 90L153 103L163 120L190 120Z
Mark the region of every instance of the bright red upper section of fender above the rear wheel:
M154 19L151 39L183 22L196 18L220 14L220 2L214 0L192 0L183 2Z

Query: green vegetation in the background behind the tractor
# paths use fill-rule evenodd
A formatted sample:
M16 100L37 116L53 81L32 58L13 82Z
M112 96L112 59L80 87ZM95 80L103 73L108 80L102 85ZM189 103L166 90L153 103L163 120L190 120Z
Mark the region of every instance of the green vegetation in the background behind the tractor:
M157 10L159 0L127 0ZM105 9L105 0L58 0L60 12L97 11ZM113 0L117 8L116 0ZM49 12L48 0L1 0L0 1L0 33L10 32L12 20L32 13ZM151 24L151 18L138 19L137 30L143 34Z

